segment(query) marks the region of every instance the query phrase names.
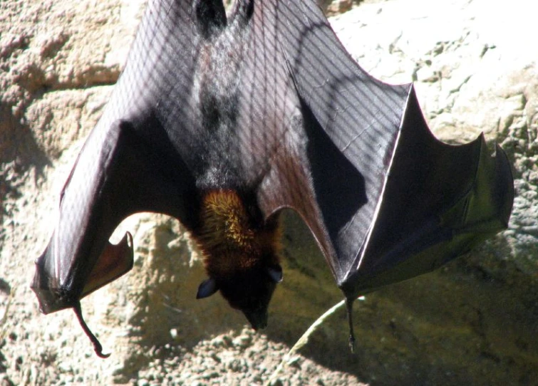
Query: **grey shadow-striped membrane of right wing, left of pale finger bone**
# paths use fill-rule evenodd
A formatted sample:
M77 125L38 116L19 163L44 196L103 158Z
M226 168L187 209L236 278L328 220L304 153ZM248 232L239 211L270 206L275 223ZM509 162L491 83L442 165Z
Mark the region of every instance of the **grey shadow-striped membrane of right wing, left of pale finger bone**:
M386 85L363 71L313 1L264 1L263 7L277 24L276 51L299 96L307 138L295 159L300 166L291 167L303 168L305 177L285 179L294 189L301 181L309 193L281 207L305 219L341 283L371 229L410 85ZM289 162L283 176L290 174L286 167Z

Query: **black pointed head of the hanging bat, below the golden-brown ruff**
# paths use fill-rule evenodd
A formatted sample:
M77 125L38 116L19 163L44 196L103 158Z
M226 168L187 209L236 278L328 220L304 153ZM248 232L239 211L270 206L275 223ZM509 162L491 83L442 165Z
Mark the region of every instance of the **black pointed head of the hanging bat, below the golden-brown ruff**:
M226 278L208 278L198 287L197 298L220 291L232 308L242 311L254 330L267 326L267 308L276 283L282 281L282 268L276 264L253 268Z

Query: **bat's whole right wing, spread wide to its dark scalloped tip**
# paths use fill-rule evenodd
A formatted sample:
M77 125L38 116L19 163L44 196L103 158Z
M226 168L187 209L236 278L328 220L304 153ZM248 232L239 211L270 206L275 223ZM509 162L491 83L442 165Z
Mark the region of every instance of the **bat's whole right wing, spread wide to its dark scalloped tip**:
M287 75L280 83L301 111L286 105L289 88L264 88L284 100L284 128L261 207L301 214L346 298L432 271L507 227L514 188L500 147L490 157L482 137L436 140L413 86L363 71L313 2L257 6L252 34L264 60L252 72Z

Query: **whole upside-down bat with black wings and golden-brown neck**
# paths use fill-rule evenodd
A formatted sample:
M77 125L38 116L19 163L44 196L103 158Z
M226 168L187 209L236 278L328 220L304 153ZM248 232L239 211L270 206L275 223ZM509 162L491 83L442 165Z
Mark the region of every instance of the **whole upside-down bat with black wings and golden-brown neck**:
M36 262L41 311L74 308L133 265L135 212L190 230L209 278L253 328L267 324L279 212L306 221L348 305L432 271L505 229L509 162L483 137L433 137L413 85L368 75L314 1L150 2L125 70L61 192Z

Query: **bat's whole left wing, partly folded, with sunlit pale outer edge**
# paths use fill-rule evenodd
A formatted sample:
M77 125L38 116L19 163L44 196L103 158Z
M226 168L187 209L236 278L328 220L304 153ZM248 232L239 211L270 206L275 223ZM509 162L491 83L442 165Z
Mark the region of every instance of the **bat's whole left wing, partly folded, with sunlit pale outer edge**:
M186 217L184 202L194 182L172 148L168 136L174 133L163 129L158 107L159 95L172 84L192 84L191 14L190 1L148 5L125 71L61 194L51 241L36 261L31 286L44 313L72 307L131 268L130 235L118 246L108 243L129 214ZM189 115L183 106L180 118Z

